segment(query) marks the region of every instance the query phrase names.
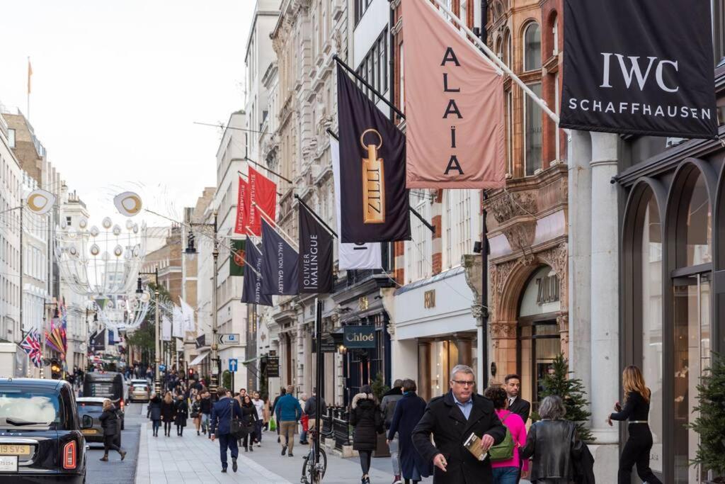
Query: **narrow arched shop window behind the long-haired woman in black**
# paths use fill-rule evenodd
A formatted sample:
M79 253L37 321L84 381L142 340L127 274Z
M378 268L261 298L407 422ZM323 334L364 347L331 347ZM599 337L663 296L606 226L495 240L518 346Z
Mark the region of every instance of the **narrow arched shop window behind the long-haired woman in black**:
M642 373L652 391L650 467L662 472L662 227L652 193L642 226Z

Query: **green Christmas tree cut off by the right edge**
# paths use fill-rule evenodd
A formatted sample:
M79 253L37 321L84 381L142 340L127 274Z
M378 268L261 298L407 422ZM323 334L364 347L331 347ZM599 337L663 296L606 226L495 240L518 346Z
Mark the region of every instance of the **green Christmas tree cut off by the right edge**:
M725 483L725 358L713 353L697 392L698 415L689 427L700 435L700 443L691 464L708 473L705 482Z

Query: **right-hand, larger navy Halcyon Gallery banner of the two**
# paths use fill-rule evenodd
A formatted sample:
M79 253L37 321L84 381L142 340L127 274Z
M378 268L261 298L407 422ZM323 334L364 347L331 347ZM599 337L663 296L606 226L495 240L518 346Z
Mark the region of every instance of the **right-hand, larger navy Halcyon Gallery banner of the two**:
M297 253L262 219L262 294L298 293Z

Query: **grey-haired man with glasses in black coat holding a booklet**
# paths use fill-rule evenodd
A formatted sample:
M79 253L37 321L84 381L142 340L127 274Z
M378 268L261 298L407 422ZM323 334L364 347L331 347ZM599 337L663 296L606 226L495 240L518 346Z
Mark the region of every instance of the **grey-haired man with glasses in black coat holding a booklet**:
M493 403L473 393L473 369L457 365L451 372L450 392L428 403L421 422L413 430L413 445L423 459L433 462L434 484L490 484L491 461L476 459L463 443L475 433L487 451L501 443L506 427L494 411ZM436 442L431 443L431 433Z

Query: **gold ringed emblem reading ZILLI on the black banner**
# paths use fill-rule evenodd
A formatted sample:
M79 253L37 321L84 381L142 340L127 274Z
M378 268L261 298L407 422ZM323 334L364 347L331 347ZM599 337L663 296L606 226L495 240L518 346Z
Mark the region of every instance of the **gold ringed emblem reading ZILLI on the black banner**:
M365 144L365 135L378 135L378 144ZM368 150L363 158L363 222L385 223L385 171L383 159L378 158L378 149L383 146L383 137L377 130L370 128L360 135L360 144Z

